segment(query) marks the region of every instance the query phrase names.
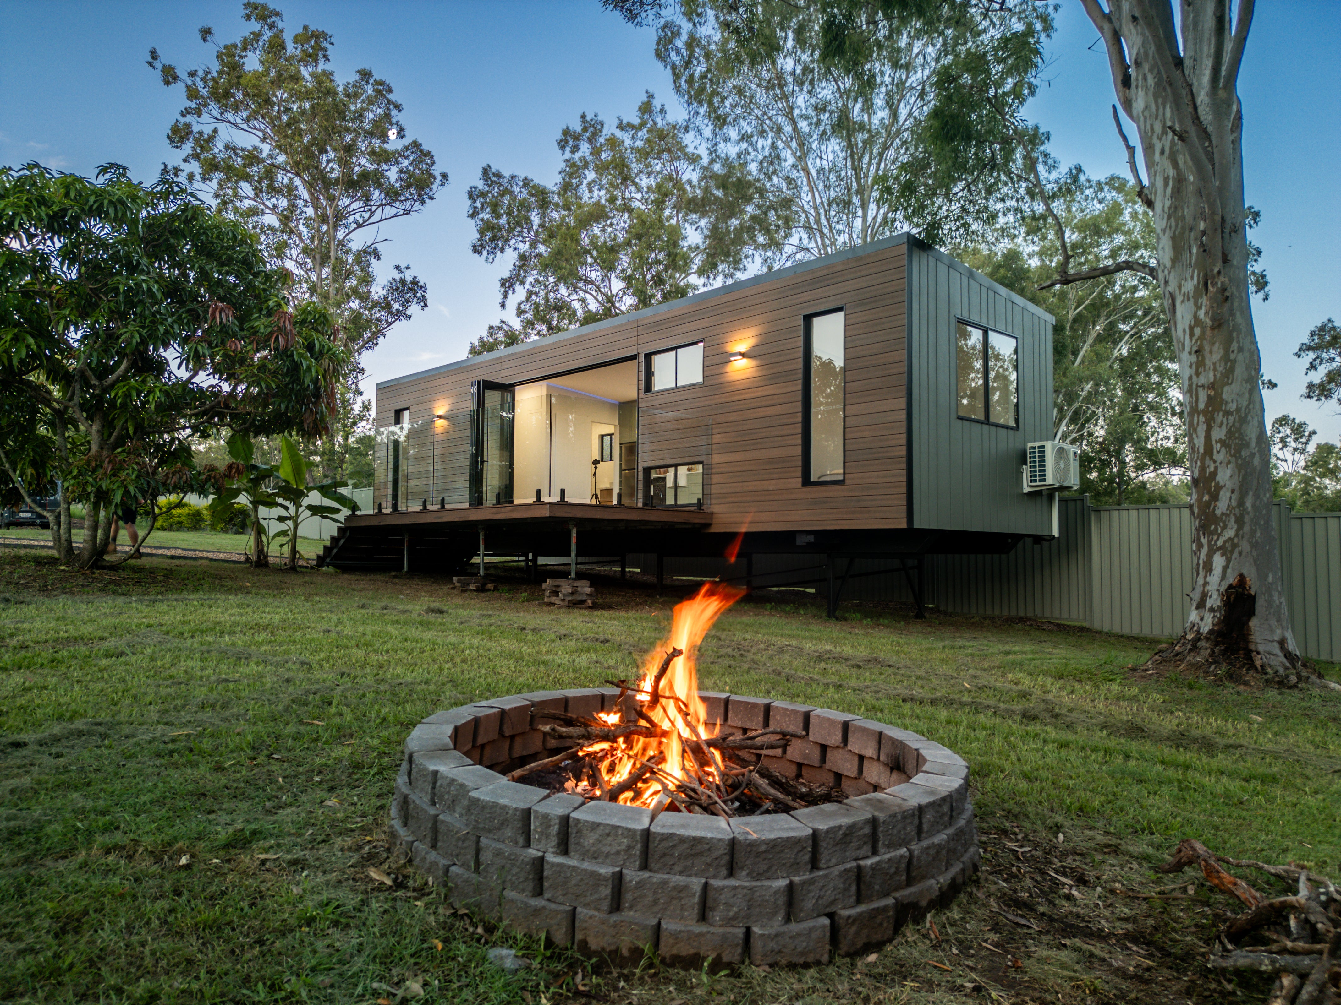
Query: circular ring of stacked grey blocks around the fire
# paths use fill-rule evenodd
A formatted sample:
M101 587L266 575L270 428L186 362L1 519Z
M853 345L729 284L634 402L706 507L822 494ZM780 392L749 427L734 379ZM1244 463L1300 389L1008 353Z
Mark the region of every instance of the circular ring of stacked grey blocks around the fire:
M620 691L531 691L439 712L405 741L390 840L449 902L636 963L825 963L889 942L978 870L968 765L916 733L829 709L700 691L720 733L806 734L776 770L849 797L724 820L587 801L504 776L562 745L532 710L593 716Z

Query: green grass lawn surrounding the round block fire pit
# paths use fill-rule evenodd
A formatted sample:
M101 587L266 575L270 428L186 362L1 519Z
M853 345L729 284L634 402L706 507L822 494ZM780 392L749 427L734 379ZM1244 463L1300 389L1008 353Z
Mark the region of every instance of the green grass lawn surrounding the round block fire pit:
M558 610L520 582L457 595L153 557L76 574L0 549L0 1001L1248 1002L1267 981L1200 962L1232 904L1151 867L1195 836L1338 871L1330 695L1139 682L1148 641L1081 628L751 599L709 634L704 686L963 754L984 871L870 957L593 974L449 913L384 828L418 720L626 675L685 592L597 586L605 610ZM1117 892L1179 879L1191 896ZM536 966L504 974L498 945Z

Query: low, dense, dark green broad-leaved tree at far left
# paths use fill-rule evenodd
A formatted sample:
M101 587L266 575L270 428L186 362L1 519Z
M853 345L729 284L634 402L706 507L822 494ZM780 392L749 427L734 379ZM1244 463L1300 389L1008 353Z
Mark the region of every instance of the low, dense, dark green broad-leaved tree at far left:
M63 563L98 564L127 501L219 486L196 440L326 431L346 356L290 288L243 224L172 178L0 169L0 466L9 492L62 482Z

